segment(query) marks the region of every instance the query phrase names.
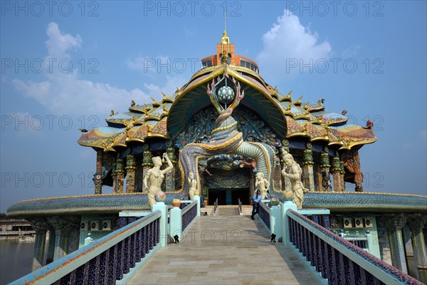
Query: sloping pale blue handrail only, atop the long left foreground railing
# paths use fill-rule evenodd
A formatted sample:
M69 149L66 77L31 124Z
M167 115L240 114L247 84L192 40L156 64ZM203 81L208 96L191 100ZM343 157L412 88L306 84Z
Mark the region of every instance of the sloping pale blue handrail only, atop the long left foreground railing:
M11 284L36 284L38 282L51 284L91 259L94 259L97 255L102 254L105 250L115 246L115 244L118 244L127 237L130 237L130 235L135 234L139 229L142 229L147 224L161 216L162 212L160 211L152 212L145 217L137 219L135 222L127 224L125 227L107 234L105 237L94 240L85 247L82 247L75 252L71 252L65 257L53 261L51 264L41 267L41 269L33 271L30 274L11 282ZM53 273L54 276L51 275Z

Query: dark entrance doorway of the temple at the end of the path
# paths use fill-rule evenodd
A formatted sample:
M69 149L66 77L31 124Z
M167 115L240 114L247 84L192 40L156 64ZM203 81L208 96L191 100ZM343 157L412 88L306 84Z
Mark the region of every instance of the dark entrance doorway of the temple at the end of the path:
M238 199L242 204L249 204L249 188L214 188L209 189L209 204L214 204L218 199L218 205L237 205Z

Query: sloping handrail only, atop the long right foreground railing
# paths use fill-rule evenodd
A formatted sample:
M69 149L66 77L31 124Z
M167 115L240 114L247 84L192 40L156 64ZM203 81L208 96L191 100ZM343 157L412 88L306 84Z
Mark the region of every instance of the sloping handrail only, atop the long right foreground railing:
M337 249L337 251L341 252L344 256L351 259L385 284L422 284L417 279L409 276L399 269L396 269L396 267L387 264L381 259L378 259L374 255L369 254L369 252L360 249L351 242L348 242L346 239L343 239L330 230L325 229L325 227L320 226L320 224L317 224L307 217L304 217L302 214L295 212L295 210L288 209L286 211L286 215L302 227L305 227L305 229L317 235L317 237L334 249Z

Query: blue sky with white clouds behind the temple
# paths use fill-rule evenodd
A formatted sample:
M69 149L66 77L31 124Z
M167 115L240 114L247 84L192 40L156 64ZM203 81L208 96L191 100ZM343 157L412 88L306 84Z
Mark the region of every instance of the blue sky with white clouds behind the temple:
M365 191L427 195L426 1L49 5L1 1L0 212L92 194L95 151L77 144L78 128L186 83L216 52L224 7L236 53L270 85L374 120L378 141L360 151Z

